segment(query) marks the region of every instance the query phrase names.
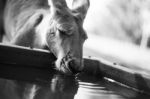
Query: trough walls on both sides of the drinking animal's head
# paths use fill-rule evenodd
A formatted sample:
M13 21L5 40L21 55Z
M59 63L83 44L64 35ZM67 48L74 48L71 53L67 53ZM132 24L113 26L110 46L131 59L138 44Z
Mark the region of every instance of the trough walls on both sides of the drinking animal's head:
M25 68L48 68L54 70L56 58L49 51L0 44L0 68L23 66ZM84 58L83 72L115 80L125 86L150 94L150 75L123 67L104 59ZM0 71L5 72L5 71Z

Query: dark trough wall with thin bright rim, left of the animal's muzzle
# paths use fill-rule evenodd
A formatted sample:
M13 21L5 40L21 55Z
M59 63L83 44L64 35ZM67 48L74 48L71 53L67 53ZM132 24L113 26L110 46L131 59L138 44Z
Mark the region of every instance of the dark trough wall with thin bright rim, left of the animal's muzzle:
M46 50L0 44L1 64L20 64L24 66L48 67L56 60Z

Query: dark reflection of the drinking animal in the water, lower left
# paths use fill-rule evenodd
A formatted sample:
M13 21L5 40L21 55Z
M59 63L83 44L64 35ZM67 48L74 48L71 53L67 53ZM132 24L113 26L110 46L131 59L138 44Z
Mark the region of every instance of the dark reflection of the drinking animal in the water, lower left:
M0 79L1 99L73 99L78 85L74 76L55 74L47 83Z

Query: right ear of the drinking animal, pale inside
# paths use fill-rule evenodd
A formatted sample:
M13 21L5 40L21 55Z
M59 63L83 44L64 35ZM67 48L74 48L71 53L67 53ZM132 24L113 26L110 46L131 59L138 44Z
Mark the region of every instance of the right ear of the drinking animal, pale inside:
M90 6L89 0L73 0L72 11L73 13L79 15L82 20L84 20L89 6Z

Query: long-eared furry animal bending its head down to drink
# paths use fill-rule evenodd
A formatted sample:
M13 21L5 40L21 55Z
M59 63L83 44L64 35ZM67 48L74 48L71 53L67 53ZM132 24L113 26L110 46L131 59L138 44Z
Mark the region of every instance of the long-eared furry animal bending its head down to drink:
M88 7L88 0L74 0L72 9L65 0L8 0L3 42L48 47L57 57L56 69L68 74L81 71L82 47L87 38L82 24Z

